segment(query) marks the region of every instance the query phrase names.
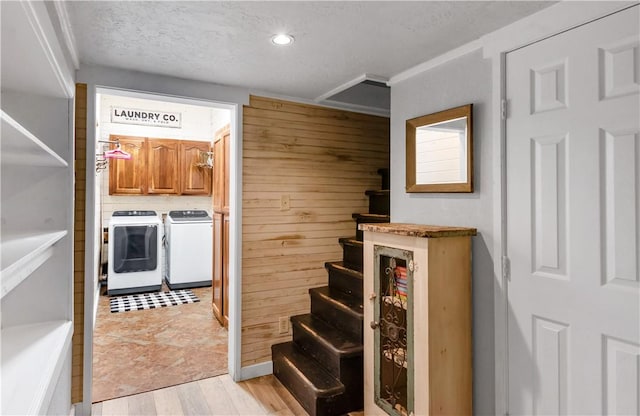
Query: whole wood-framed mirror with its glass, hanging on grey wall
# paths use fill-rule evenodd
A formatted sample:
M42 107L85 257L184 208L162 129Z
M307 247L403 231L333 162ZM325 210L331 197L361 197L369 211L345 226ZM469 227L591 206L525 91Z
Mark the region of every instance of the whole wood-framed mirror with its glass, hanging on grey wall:
M472 108L407 120L407 192L473 192Z

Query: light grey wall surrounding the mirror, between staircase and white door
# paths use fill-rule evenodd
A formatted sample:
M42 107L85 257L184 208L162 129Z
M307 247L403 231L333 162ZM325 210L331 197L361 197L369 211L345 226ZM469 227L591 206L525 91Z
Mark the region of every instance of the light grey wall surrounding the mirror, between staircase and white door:
M476 227L473 238L474 414L494 412L492 66L477 50L391 88L391 221ZM405 122L473 103L474 188L470 194L408 194Z

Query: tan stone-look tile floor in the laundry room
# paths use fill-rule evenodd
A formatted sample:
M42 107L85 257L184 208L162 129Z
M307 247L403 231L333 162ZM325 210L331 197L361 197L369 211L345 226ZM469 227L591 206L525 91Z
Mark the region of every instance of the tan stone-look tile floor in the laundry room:
M192 290L200 302L120 313L100 297L92 402L227 372L227 330L213 317L211 288Z

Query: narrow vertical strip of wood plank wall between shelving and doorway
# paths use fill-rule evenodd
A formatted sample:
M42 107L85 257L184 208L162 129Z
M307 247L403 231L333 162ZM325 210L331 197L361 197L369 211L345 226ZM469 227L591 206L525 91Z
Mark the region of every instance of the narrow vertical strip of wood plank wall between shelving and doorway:
M71 402L82 401L84 357L84 241L87 177L87 84L76 84L75 100L75 214L73 251L73 338Z

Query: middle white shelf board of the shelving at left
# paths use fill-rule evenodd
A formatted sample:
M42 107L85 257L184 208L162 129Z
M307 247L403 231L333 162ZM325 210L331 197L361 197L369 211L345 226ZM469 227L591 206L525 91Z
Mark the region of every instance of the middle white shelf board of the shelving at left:
M22 234L0 243L0 298L11 292L53 254L53 245L67 235L67 231L41 234Z

